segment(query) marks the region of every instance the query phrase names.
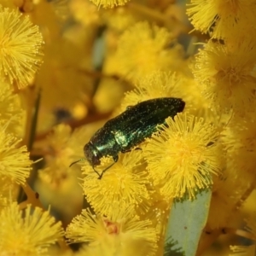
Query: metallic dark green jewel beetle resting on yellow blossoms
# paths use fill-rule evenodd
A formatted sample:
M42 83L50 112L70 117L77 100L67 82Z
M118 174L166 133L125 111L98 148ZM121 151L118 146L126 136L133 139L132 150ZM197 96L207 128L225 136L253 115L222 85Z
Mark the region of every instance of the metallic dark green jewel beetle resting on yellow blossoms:
M185 102L180 98L161 97L144 102L139 102L135 106L129 106L125 112L120 113L117 117L108 120L93 137L90 142L84 145L85 158L88 160L94 171L96 166L101 164L103 156L111 156L113 164L119 160L119 153L126 153L132 148L137 147L147 137L157 131L157 125L165 123L168 117L183 112ZM73 164L79 162L77 160ZM98 174L101 179L104 172L111 166L108 166Z

